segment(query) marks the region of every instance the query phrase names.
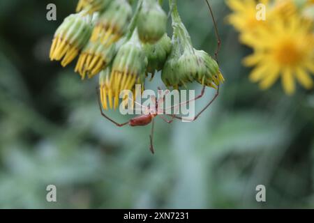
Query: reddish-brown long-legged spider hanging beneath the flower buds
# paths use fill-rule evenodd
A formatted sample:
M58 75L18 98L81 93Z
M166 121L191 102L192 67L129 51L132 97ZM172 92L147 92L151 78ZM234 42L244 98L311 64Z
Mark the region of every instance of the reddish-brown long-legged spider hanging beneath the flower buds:
M221 41L220 41L220 38L218 36L218 29L217 29L217 25L216 25L216 20L214 18L213 11L211 10L211 6L209 5L209 1L208 0L205 0L205 1L207 2L207 6L209 7L209 11L211 13L211 18L212 18L212 20L214 22L216 38L218 40L217 41L217 49L216 49L216 52L215 52L215 59L216 59L216 61L218 61L217 60L217 55L218 55L218 51L220 49ZM165 100L165 95L167 95L167 93L170 92L169 90L167 90L165 92L163 97L158 97L158 100L156 100L156 97L154 97L154 96L151 97L151 101L155 105L153 107L143 107L142 105L140 105L137 102L135 102L138 105L140 105L141 108L144 108L145 112L144 112L144 114L135 116L134 118L130 118L130 120L127 121L126 123L118 123L117 121L114 121L112 118L110 118L109 116L107 116L103 112L103 109L101 107L99 92L97 91L98 89L96 89L96 91L97 91L97 94L98 94L98 105L99 105L99 109L100 109L100 114L104 118L106 118L108 121L114 123L114 125L117 125L118 127L123 127L125 125L130 125L131 127L135 127L135 126L149 125L151 123L151 134L149 135L149 140L150 140L149 149L150 149L151 153L154 154L155 150L154 150L153 139L154 139L154 123L155 123L154 121L155 121L156 116L159 116L166 123L172 123L175 118L179 119L181 121L195 121L214 102L214 100L216 100L216 98L219 95L219 85L218 85L218 88L217 88L217 91L216 91L216 94L214 95L214 97L207 103L207 105L199 113L196 114L196 116L194 116L194 118L185 118L185 117L182 117L182 116L178 116L178 115L176 115L176 112L174 112L174 114L167 114L166 112L167 112L168 109L176 109L176 108L178 108L181 105L188 105L190 102L193 102L193 101L195 101L197 99L202 98L202 96L205 93L205 89L206 89L206 86L203 86L200 95L197 95L195 98L193 98L191 100L187 100L186 102L181 102L181 103L179 103L177 105L173 105L173 106L167 107L165 109L160 109L160 107L161 107L160 105L163 104L163 102ZM158 90L160 90L160 88L158 88ZM159 91L158 91L158 94L159 94ZM165 118L165 116L169 116L170 119Z

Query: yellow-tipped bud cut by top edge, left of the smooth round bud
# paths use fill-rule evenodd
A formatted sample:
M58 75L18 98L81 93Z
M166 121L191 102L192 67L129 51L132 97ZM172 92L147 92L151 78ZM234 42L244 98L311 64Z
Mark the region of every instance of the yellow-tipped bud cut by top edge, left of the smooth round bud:
M91 40L98 38L103 43L114 43L126 33L128 23L132 17L132 8L126 0L114 0L107 10L100 15L95 29L91 35Z

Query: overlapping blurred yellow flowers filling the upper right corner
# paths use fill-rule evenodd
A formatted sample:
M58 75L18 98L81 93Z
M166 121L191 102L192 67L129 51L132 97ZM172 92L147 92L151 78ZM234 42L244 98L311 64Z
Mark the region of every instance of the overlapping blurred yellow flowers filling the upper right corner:
M267 4L266 21L256 19L258 3ZM240 32L241 43L254 50L244 59L245 66L255 67L251 81L268 89L281 77L288 95L295 91L294 79L305 89L313 87L313 21L298 14L294 1L227 0L227 5L233 11L228 22Z

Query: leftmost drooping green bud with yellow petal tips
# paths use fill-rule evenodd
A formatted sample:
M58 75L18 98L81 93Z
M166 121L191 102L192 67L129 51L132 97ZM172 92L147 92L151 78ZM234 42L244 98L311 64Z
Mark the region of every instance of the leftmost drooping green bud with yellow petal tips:
M54 34L50 59L52 61L63 59L61 65L67 66L88 42L92 28L91 15L84 15L82 12L66 17Z

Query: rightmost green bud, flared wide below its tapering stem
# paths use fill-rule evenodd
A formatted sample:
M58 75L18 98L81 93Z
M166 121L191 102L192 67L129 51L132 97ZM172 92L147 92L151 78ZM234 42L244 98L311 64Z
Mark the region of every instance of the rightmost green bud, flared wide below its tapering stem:
M178 88L186 85L186 82L197 81L216 88L224 81L218 64L206 52L193 48L188 31L177 12L177 6L174 6L172 11L172 26L172 52L161 74L163 82L166 86Z

